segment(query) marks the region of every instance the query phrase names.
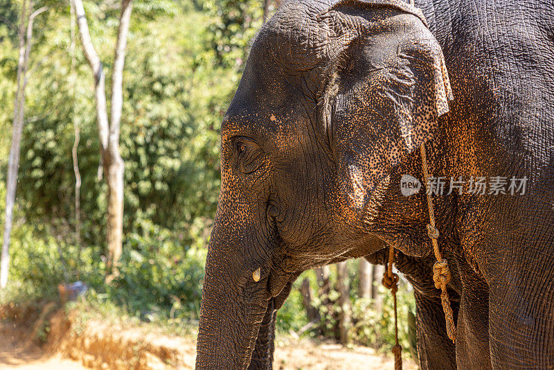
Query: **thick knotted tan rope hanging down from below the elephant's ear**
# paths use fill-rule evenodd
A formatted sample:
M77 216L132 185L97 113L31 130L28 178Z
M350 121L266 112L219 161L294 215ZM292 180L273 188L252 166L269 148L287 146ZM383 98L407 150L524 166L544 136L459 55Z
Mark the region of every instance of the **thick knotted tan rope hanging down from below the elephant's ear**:
M448 262L443 258L443 254L438 249L438 230L435 227L435 212L433 209L433 200L431 199L431 191L427 188L429 181L429 168L427 166L427 153L425 152L425 144L421 145L421 161L423 165L423 176L426 182L427 190L427 207L429 208L429 224L427 224L427 235L433 243L433 251L435 253L436 263L433 265L433 281L435 288L440 289L440 302L443 303L443 311L446 319L446 333L452 342L456 342L456 325L454 324L454 314L450 307L450 300L446 287L450 282L450 269Z

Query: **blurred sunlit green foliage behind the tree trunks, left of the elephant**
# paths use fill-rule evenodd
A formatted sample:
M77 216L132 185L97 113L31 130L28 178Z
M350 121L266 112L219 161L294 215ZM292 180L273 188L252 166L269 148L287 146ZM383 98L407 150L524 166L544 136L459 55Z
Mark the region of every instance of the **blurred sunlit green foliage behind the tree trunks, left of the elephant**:
M17 25L19 3L2 4L0 150L5 155L0 166L5 174L17 34L2 22L6 18ZM210 48L210 31L198 26L211 19L195 10L202 8L197 3L134 2L120 141L126 163L125 253L120 276L106 287L106 188L96 177L93 80L78 39L71 74L69 4L46 5L51 10L35 23L10 248L10 292L3 292L2 299L53 297L58 283L82 279L96 292L94 297L114 301L132 315L197 319L204 247L220 187L220 121L240 75L235 68L219 67ZM109 87L118 6L113 1L84 1L84 6ZM107 93L109 98L109 89ZM80 127L79 247L73 236L73 120ZM1 194L0 204L3 200Z

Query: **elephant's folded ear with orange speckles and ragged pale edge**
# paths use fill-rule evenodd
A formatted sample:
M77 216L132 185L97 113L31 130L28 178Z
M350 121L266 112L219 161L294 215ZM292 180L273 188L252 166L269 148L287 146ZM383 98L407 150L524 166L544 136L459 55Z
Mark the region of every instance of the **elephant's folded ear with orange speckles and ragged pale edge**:
M323 118L348 205L360 209L393 166L433 138L452 89L413 6L343 0L319 19L331 35Z

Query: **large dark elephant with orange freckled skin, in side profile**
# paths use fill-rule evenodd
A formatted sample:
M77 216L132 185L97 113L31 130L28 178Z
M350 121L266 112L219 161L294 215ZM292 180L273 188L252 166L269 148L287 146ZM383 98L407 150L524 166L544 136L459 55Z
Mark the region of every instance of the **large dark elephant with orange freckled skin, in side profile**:
M300 272L394 248L422 369L552 369L553 19L548 1L283 3L221 125L196 368L271 369Z

